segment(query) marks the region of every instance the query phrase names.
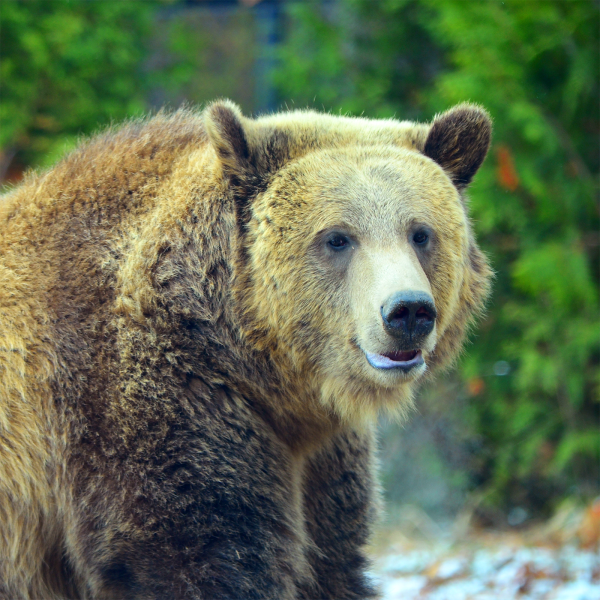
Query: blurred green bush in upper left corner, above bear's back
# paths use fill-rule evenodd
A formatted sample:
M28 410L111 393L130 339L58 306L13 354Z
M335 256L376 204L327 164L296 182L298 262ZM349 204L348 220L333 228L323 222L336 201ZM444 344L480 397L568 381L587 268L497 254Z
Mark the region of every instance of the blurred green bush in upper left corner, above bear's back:
M51 164L78 135L146 109L155 14L169 3L3 0L0 167Z

